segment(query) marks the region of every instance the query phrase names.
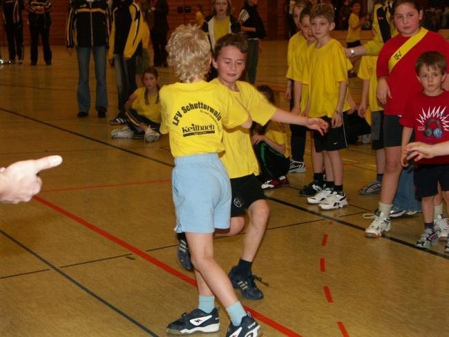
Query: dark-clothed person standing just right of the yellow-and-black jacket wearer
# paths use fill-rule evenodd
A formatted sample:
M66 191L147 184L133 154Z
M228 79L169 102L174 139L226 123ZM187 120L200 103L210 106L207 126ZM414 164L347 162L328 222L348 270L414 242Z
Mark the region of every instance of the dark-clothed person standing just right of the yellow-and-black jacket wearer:
M155 3L155 4L154 4ZM151 11L153 12L153 27L151 27L151 43L154 51L154 66L167 66L166 63L166 37L169 33L169 22L166 17L169 15L169 4L166 0L153 0Z

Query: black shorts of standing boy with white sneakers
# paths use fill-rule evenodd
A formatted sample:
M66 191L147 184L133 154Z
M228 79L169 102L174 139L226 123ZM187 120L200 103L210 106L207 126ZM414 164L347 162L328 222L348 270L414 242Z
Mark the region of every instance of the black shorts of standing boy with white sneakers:
M345 133L345 124L347 124L347 113L343 113L343 124L339 128L331 128L332 118L327 116L321 117L327 123L329 123L329 128L327 133L321 135L318 131L314 131L314 143L315 151L337 151L342 148L347 148L347 140Z

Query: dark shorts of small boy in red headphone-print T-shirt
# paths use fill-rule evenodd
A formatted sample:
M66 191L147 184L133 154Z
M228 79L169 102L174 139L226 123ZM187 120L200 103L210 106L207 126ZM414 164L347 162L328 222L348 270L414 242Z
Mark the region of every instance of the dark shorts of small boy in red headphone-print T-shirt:
M449 164L423 164L414 168L414 196L416 198L431 197L441 190L449 191Z

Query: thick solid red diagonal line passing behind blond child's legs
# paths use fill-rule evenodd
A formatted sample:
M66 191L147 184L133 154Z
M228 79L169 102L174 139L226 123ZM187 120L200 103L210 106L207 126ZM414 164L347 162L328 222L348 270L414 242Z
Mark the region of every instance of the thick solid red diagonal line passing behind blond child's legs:
M75 222L82 224L84 227L87 227L88 229L95 231L95 233L102 235L104 238L114 242L115 244L118 244L119 246L123 247L124 249L127 249L128 251L135 253L135 255L140 256L141 258L143 258L144 260L147 260L148 262L151 262L155 266L160 267L161 269L164 269L164 271L171 273L173 276L176 276L177 278L180 278L184 282L189 283L189 285L193 285L194 287L196 287L196 281L193 278L186 276L183 273L181 273L180 271L170 267L168 264L165 264L164 262L157 260L156 258L153 258L148 253L134 247L131 244L128 244L128 242L126 242L120 238L117 238L115 235L112 235L111 233L108 233L108 232L104 231L103 229L100 229L99 227L95 226L95 224L91 224L90 222L87 222L86 220L79 218L77 215L70 213L69 211L66 211L65 209L61 209L61 207L59 207L55 204L52 204L51 202L49 202L45 199L42 199L42 198L38 197L37 195L35 195L33 197L33 199L35 199L38 202L41 202L41 204L44 204L44 205L50 207L50 209L57 211L58 213L61 213L62 215L65 215L67 218L70 218L70 219L74 220ZM257 318L261 322L264 322L266 325L279 331L281 334L284 334L285 336L301 337L300 334L296 333L295 331L290 330L289 328L281 325L280 323L278 323L274 320L271 320L271 318L268 318L267 316L260 314L260 312L255 311L254 309L251 309L247 306L244 306L244 307L245 307L245 310L249 311L254 318Z

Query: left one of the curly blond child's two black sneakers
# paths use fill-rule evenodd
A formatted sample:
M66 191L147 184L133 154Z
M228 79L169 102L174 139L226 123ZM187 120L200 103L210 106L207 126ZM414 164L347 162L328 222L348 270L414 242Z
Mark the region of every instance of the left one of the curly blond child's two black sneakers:
M220 330L220 318L218 317L217 308L214 308L210 314L200 309L195 309L189 314L184 312L181 318L171 322L166 327L166 331L169 334L175 335L194 334L195 332L216 332L218 330Z

